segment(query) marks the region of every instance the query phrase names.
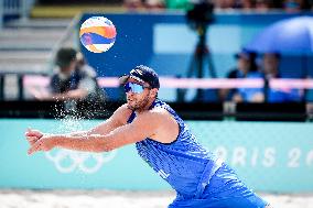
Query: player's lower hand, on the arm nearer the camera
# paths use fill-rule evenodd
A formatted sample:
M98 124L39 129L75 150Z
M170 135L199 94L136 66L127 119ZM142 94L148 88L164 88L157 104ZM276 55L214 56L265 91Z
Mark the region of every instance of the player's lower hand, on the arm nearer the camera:
M56 145L56 138L54 135L42 135L35 143L31 144L29 154L37 151L50 151Z

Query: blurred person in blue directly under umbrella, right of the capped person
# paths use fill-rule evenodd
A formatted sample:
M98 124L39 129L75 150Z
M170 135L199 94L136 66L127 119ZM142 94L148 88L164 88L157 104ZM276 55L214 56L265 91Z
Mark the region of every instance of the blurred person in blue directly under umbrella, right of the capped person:
M262 55L261 68L267 80L270 80L271 78L281 78L279 73L280 58L279 53L266 53ZM266 95L268 102L302 101L303 99L303 91L292 88L268 88Z

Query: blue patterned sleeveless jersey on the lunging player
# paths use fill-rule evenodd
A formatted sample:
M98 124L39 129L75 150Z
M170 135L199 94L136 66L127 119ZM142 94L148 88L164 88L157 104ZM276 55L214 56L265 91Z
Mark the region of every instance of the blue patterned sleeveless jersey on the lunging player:
M222 166L220 160L205 150L191 133L184 121L165 102L155 100L150 109L163 108L176 120L180 131L170 144L147 138L137 142L139 155L183 198L201 196L214 173ZM132 112L128 122L132 122Z

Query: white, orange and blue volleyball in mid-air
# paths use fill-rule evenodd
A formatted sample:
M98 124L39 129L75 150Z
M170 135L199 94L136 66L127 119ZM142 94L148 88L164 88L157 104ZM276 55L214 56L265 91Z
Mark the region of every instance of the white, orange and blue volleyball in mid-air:
M80 26L79 39L82 44L94 53L108 51L116 41L116 28L105 17L91 17Z

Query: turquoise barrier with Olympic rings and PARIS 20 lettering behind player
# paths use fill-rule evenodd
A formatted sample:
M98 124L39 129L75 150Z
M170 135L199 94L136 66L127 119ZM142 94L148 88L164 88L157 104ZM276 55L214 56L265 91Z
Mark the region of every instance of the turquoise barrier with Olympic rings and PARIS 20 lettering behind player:
M110 153L53 150L26 154L28 127L60 133L100 121L1 119L1 188L169 189L137 155L133 145ZM187 121L208 150L216 152L251 188L313 191L313 123Z

